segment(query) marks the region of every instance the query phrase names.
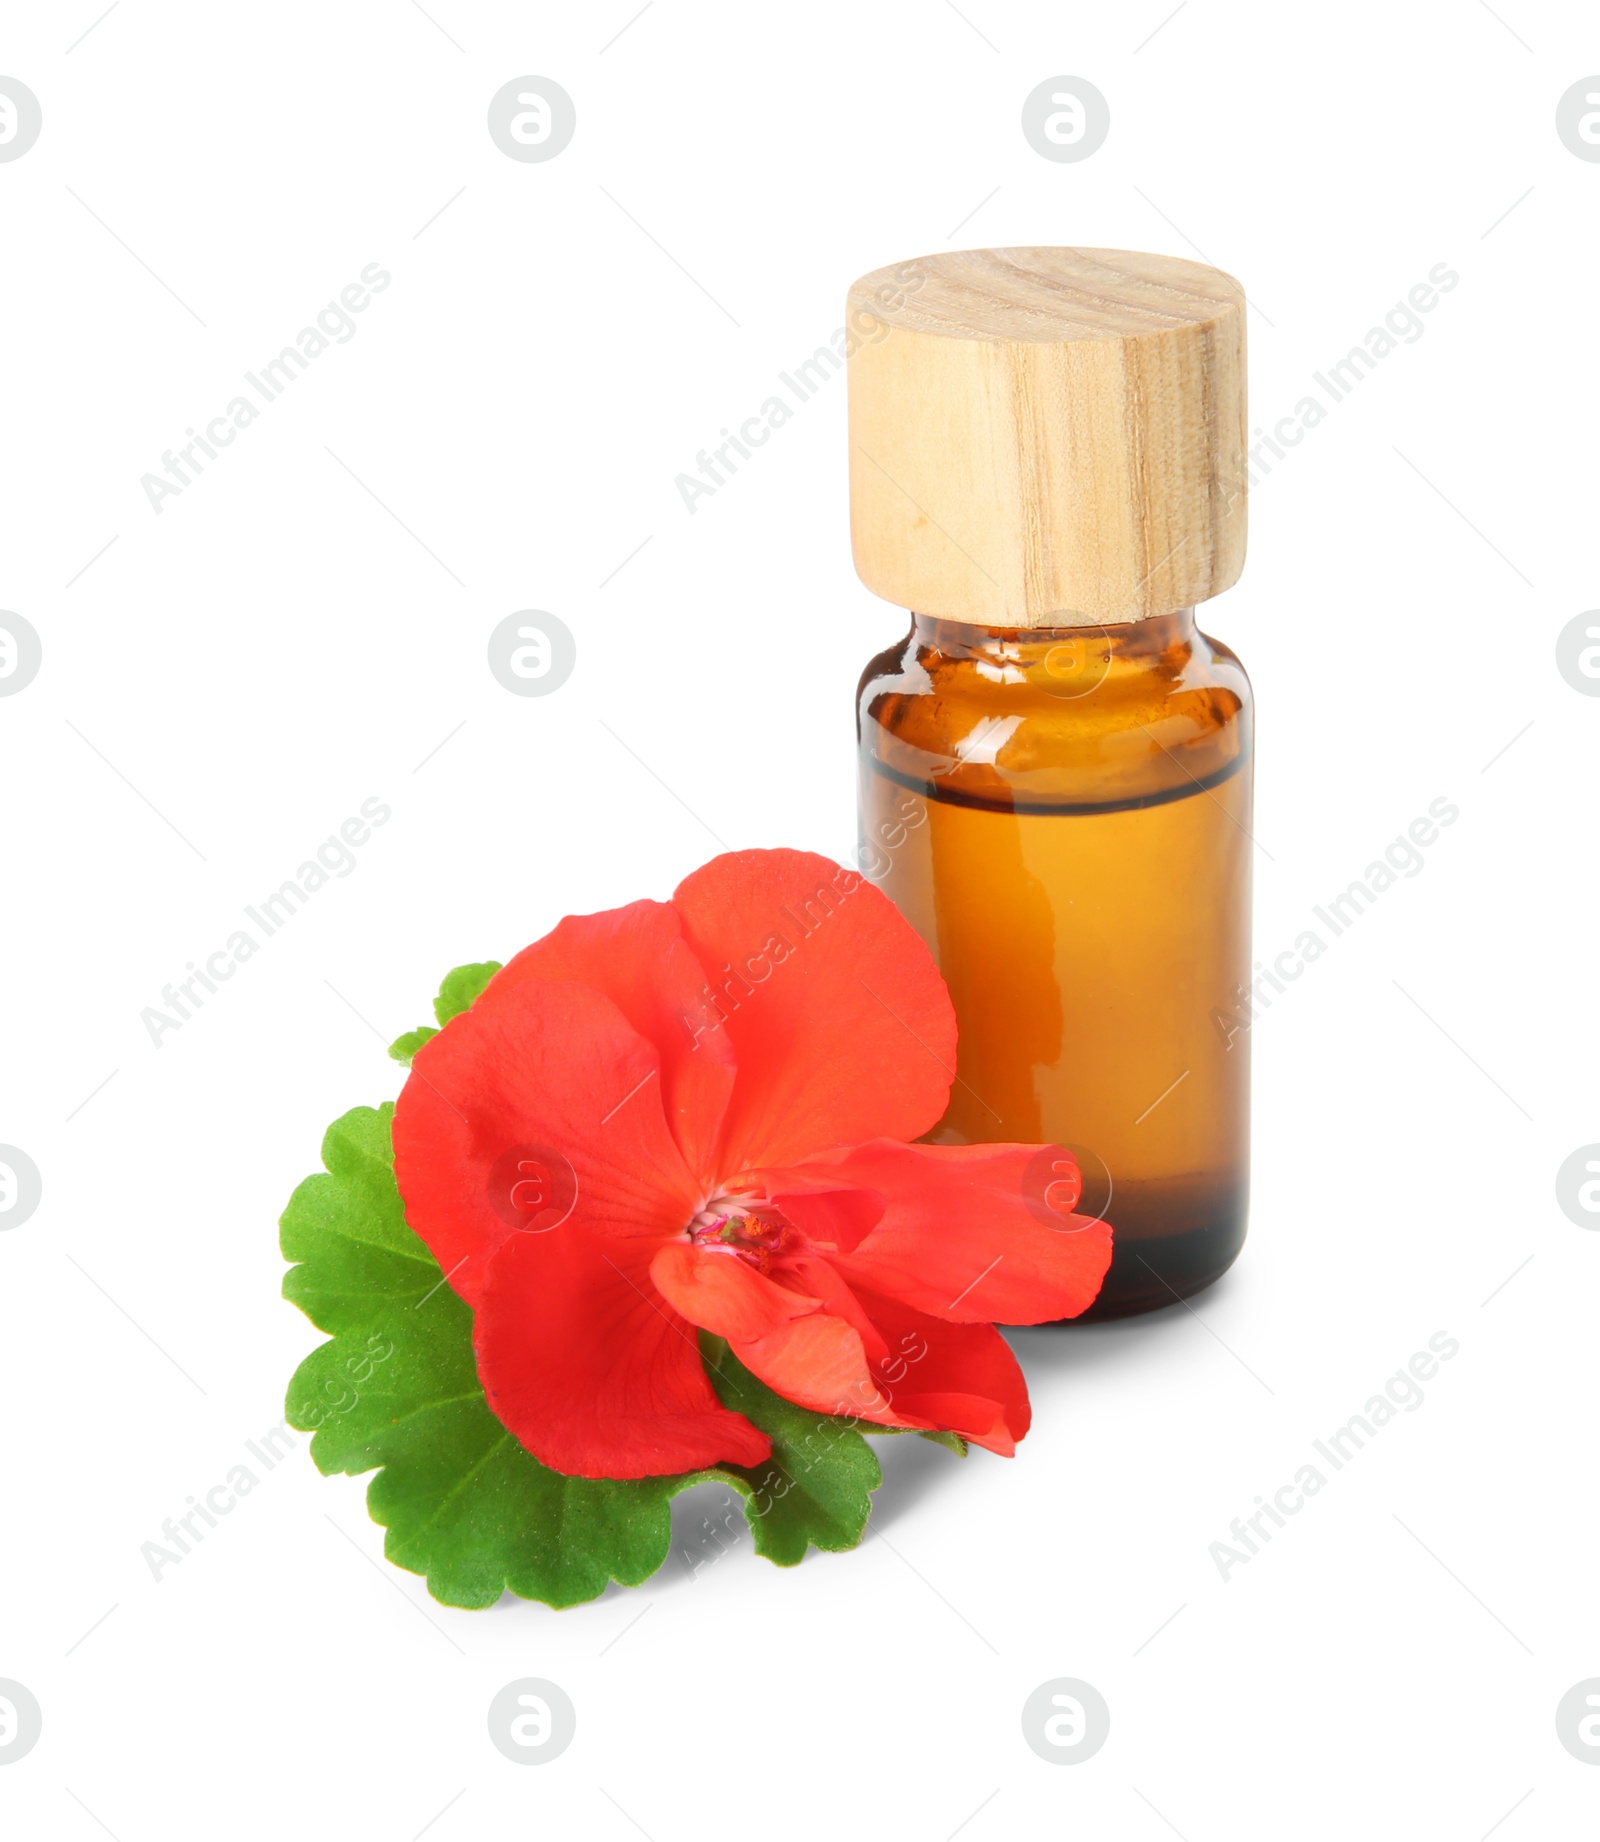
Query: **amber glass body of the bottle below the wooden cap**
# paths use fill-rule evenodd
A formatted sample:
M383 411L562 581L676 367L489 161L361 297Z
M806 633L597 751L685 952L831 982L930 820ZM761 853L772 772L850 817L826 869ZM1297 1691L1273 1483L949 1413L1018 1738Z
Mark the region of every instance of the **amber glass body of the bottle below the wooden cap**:
M1081 694L1037 682L1049 635L945 623L864 680L864 868L959 1024L930 1140L1073 1149L1116 1249L1088 1317L1199 1291L1245 1238L1248 685L1169 623L1107 630Z

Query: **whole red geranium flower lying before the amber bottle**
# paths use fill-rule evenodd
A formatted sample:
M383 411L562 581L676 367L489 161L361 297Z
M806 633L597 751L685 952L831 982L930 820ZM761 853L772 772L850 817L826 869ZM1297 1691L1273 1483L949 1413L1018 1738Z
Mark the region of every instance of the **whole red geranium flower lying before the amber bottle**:
M1027 1387L994 1321L1083 1312L1110 1229L1066 1214L1064 1151L906 1142L954 1065L928 949L823 857L718 857L519 952L394 1114L495 1415L580 1477L759 1464L700 1326L817 1413L1011 1453Z

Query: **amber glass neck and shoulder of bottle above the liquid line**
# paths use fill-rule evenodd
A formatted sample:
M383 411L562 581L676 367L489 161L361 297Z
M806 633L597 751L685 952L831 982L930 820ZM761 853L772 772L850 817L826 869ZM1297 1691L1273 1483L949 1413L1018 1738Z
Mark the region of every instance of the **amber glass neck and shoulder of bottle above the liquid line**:
M932 798L1020 807L1171 799L1250 759L1237 654L1193 617L987 634L915 623L862 674L867 764Z

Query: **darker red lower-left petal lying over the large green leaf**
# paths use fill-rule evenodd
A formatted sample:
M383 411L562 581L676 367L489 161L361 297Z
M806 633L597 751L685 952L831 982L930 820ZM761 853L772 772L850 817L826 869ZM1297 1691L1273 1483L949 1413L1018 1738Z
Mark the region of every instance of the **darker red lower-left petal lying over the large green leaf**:
M722 1407L694 1328L650 1284L650 1242L514 1234L477 1313L490 1407L539 1463L573 1477L759 1464L771 1440Z

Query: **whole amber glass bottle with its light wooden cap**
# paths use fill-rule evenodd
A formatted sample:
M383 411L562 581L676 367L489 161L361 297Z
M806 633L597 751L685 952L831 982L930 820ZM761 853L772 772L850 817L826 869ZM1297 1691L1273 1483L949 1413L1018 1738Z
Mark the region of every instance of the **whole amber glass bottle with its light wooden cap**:
M1243 300L976 251L851 306L856 565L917 610L860 685L862 868L956 1004L932 1140L1072 1148L1086 1315L1154 1310L1245 1238L1252 704L1193 617L1243 562Z

